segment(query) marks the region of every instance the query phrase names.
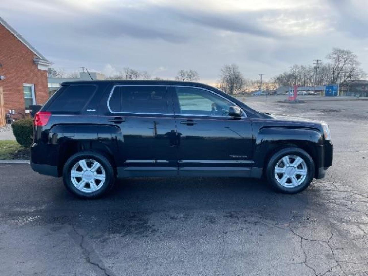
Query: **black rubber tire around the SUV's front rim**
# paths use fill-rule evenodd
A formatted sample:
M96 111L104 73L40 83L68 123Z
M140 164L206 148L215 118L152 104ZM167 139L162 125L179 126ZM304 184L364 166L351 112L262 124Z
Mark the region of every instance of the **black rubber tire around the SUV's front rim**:
M275 176L275 167L280 159L285 156L295 155L302 158L307 166L307 174L305 179L296 187L284 187L281 185ZM305 190L312 182L315 173L315 166L311 156L304 150L297 147L283 148L277 151L268 161L266 166L266 177L270 186L277 192L282 192L284 194L296 194ZM300 177L300 176L299 176ZM290 179L288 180L291 181ZM300 180L301 181L301 180Z

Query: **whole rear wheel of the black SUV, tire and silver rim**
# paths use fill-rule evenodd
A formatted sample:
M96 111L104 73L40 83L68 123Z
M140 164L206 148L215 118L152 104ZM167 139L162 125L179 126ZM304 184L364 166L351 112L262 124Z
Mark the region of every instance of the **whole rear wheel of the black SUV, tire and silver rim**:
M78 152L64 165L63 181L80 198L98 198L110 191L115 175L110 161L97 152Z

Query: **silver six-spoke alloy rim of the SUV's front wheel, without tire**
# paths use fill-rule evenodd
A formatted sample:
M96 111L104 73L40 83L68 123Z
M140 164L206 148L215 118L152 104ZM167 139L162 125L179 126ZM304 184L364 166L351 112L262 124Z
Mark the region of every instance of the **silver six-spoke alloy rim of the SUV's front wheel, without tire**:
M294 188L302 184L307 173L307 164L296 155L284 156L275 166L276 181L286 188Z

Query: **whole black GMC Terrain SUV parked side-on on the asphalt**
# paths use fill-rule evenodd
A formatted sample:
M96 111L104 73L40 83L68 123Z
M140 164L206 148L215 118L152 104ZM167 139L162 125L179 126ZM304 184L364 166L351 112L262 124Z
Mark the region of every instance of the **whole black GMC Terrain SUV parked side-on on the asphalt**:
M64 82L35 116L32 169L95 198L116 177L265 176L294 194L331 166L328 125L257 112L208 85Z

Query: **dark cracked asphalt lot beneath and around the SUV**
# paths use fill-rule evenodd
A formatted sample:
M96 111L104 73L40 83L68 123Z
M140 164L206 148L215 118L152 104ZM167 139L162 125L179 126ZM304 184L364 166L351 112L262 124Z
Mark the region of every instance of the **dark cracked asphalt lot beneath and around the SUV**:
M243 178L132 178L85 201L1 164L0 275L368 275L368 102L245 101L327 121L326 177L297 195Z

